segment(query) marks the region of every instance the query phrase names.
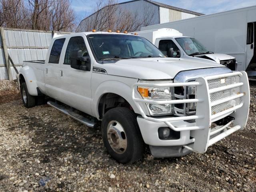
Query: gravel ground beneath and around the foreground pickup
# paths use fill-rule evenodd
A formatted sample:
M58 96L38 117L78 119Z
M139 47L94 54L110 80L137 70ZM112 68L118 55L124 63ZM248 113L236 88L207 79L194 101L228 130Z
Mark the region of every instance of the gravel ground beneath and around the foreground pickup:
M205 154L157 159L146 151L141 161L124 166L106 152L99 128L86 128L47 105L27 109L14 84L2 81L0 192L256 191L256 84L250 88L244 131Z

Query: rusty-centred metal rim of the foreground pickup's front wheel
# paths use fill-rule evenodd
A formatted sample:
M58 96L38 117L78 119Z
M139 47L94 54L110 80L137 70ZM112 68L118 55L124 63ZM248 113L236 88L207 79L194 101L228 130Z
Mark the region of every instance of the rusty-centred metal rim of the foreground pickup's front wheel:
M114 152L123 154L127 148L127 138L124 128L117 121L110 121L107 127L108 142Z

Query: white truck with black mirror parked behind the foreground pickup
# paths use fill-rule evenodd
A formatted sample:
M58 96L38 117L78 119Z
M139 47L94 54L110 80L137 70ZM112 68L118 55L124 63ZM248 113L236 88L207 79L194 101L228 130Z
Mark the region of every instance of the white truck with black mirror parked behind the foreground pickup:
M182 36L182 33L175 29L161 28L158 30L145 30L136 32L136 34L147 38L168 57L216 62L233 71L236 70L237 63L233 56L214 54L214 52L207 50L195 38Z

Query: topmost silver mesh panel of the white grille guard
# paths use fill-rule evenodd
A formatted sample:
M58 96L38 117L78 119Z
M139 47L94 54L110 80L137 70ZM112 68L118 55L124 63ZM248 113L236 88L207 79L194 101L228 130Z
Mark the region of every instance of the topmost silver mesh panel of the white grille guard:
M223 87L226 85L240 83L240 77L239 75L235 75L230 77L211 79L211 80L207 80L207 82L208 82L209 89L214 89L214 88Z

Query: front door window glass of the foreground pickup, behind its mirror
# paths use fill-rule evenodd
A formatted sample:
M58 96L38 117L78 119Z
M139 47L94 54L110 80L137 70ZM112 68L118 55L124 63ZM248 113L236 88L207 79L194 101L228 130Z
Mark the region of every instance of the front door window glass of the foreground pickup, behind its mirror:
M66 54L64 57L65 65L70 65L70 63L71 63L70 56L71 56L72 51L78 51L78 50L82 50L82 56L88 55L88 50L84 43L84 38L82 38L81 36L70 38L70 40L68 42L67 49L66 49Z

